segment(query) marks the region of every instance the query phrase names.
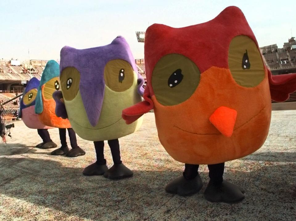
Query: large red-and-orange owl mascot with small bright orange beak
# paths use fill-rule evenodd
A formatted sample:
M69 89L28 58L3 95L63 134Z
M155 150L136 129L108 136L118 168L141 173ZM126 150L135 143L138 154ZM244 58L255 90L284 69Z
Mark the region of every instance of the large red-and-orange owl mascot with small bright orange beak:
M271 98L284 101L296 75L271 76L244 14L231 6L198 25L154 24L145 36L145 101L123 110L127 123L154 109L159 140L185 171L166 191L200 190L198 165L208 164L205 198L232 203L243 190L223 180L224 162L249 155L264 143Z

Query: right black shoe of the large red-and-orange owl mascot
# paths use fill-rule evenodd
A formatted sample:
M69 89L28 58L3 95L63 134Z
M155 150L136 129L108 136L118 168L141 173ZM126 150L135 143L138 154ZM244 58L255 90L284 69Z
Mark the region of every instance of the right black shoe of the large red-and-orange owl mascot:
M245 199L244 190L226 180L220 184L215 184L211 180L204 191L206 200L213 203L237 203Z

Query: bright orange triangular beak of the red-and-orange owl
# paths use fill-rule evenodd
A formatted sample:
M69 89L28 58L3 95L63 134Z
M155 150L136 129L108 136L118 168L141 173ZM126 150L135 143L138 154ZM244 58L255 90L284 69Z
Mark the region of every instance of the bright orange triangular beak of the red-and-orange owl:
M210 116L210 122L226 137L231 137L236 121L237 111L220 106Z

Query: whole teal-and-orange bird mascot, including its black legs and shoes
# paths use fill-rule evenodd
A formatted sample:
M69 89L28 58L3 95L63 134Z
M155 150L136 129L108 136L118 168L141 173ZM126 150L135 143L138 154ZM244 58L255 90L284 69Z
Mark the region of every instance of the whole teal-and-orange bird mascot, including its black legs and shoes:
M61 147L52 151L51 155L63 155L76 157L84 155L85 152L78 147L76 134L71 128L68 119L62 119L55 115L55 101L52 97L53 92L60 90L60 66L54 61L47 62L38 86L36 96L35 113L38 114L39 121L50 127L58 127L60 133ZM72 149L69 151L66 142L66 129Z

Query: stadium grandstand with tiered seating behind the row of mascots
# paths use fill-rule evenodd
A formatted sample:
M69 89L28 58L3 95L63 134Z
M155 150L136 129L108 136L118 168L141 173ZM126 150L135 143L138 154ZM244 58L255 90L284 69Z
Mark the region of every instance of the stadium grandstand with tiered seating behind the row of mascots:
M145 32L136 32L138 42L145 41ZM260 47L262 58L273 75L296 73L296 41L292 37L285 42L282 48L277 44ZM135 59L138 73L146 80L144 59ZM40 80L41 74L45 68L47 60L30 60L29 62L20 62L17 59L0 60L0 106L23 93L27 81L31 77ZM290 102L288 105L287 103ZM284 109L296 109L296 92L290 94L290 98L285 102ZM274 108L275 110L283 109ZM284 105L285 106L285 105ZM3 105L4 116L6 119L17 119L19 110L19 99Z

